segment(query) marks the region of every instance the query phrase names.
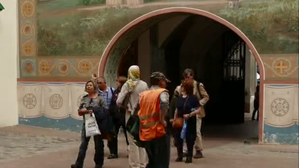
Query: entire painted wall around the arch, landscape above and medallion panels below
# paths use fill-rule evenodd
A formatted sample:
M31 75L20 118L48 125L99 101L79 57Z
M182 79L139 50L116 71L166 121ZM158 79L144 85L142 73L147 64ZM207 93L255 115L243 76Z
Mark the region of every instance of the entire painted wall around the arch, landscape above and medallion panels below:
M27 81L18 83L20 124L80 131L77 108L85 83L73 81L84 82L97 73L100 56L121 28L167 7L202 9L235 25L262 54L266 81L299 78L298 0L239 0L239 8L228 8L228 0L19 0L18 6L20 78ZM152 24L143 23L118 41L105 70L108 83L115 79L117 57L135 40L131 35ZM296 141L293 99L298 85L266 86L264 140ZM289 94L283 94L287 89Z

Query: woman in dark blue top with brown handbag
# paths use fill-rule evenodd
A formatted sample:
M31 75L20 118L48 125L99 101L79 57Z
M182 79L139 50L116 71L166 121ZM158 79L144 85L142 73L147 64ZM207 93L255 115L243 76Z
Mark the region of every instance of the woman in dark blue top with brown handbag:
M175 145L178 150L176 162L182 162L183 159L183 142L181 139L182 127L185 122L186 128L184 136L188 156L185 163L192 163L193 146L196 139L196 115L199 113L200 104L195 95L193 95L193 84L182 82L181 95L178 99L177 109L175 112L173 127L175 129Z

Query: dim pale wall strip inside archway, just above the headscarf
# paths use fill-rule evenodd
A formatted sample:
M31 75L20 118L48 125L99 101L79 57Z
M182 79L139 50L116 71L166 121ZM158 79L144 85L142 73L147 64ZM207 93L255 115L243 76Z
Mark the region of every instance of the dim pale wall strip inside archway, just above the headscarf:
M140 79L149 85L151 56L149 30L138 37L138 66L140 68Z

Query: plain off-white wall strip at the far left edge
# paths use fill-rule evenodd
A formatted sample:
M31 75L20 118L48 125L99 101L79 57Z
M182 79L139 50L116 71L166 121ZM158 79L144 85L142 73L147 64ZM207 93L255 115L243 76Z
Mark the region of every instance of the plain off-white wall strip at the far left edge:
M0 127L18 124L17 57L18 25L17 0L1 0L0 12Z

